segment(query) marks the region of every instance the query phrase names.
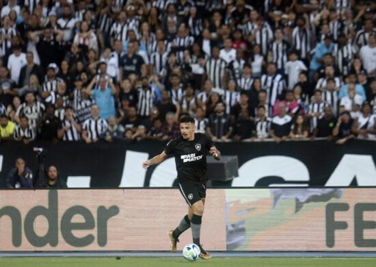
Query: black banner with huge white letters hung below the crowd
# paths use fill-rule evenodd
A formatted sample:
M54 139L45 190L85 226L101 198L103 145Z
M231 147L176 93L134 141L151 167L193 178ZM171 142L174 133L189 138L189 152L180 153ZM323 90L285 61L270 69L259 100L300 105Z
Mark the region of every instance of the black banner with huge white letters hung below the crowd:
M25 158L27 166L36 170L33 147L48 151L45 165L57 166L59 175L68 180L70 187L171 187L176 184L173 157L147 171L142 168L142 162L161 153L166 143L36 142L27 146L4 142L0 146L0 188L5 187L6 175L17 157ZM215 145L224 160L236 162L231 166L239 167L231 171L237 177L231 177L226 186L376 186L375 141L349 140L343 145L326 140Z

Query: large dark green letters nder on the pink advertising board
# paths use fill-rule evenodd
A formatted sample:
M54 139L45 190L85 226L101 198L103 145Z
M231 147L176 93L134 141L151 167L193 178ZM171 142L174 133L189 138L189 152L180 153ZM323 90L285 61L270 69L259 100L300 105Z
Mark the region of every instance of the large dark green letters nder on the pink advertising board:
M59 236L58 222L58 203L57 190L49 190L49 205L44 207L41 205L32 207L25 216L23 223L25 237L33 246L43 247L46 244L57 246ZM84 219L83 223L72 223L75 215L81 215ZM108 209L99 206L97 209L97 218L95 218L87 207L75 205L66 209L62 214L60 221L61 235L64 240L75 247L88 246L94 242L94 235L88 234L83 237L75 236L72 231L92 230L96 228L98 246L106 246L107 244L107 222L108 220L119 214L119 207L112 205ZM22 218L21 212L13 206L5 206L0 209L0 219L2 216L9 216L12 220L12 244L13 246L21 246L22 242ZM34 230L34 221L38 216L43 216L48 221L47 233L44 236L38 236ZM0 237L1 238L1 237ZM1 239L0 239L1 242Z

